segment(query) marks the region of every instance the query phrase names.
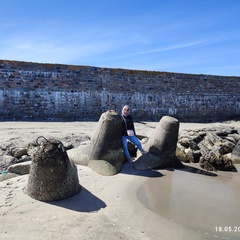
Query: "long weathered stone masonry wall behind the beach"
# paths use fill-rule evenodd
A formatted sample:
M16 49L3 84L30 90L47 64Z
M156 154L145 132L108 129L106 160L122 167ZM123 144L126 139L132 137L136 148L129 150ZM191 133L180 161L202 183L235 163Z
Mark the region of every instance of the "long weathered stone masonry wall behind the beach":
M0 60L0 120L98 120L129 104L135 120L240 117L240 77Z

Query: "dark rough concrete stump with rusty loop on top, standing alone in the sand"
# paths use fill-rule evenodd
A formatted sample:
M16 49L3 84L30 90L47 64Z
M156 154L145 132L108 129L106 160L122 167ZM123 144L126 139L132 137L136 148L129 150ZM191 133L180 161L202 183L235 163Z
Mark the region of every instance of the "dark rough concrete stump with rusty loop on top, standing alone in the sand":
M40 201L55 201L80 190L77 168L69 160L63 144L44 138L32 159L26 193Z

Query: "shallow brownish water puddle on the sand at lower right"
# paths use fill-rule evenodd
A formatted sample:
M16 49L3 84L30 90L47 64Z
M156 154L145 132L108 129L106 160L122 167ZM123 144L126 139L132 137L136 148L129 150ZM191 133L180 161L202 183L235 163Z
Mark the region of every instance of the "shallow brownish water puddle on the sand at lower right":
M140 201L152 211L196 231L240 239L240 174L161 171L139 188ZM203 174L205 173L205 174ZM233 238L231 238L233 237Z

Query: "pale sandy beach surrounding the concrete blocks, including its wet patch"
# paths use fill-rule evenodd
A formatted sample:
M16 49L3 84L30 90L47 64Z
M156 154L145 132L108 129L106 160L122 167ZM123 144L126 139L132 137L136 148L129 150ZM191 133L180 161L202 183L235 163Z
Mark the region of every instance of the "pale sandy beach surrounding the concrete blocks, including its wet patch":
M135 126L138 134L149 136L156 124ZM180 130L218 124L181 123ZM240 127L239 122L225 124ZM38 136L78 144L95 126L1 122L0 146L24 146ZM0 239L240 239L239 172L209 173L198 164L136 171L125 163L121 173L102 176L77 167L81 192L56 202L26 195L28 175L0 182Z

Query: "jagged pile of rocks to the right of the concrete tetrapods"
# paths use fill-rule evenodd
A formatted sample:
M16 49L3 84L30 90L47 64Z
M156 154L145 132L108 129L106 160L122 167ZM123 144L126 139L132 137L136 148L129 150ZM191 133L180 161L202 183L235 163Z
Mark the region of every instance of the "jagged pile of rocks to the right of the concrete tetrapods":
M226 125L184 130L179 134L176 156L209 171L236 171L234 164L240 163L239 134L239 129Z

